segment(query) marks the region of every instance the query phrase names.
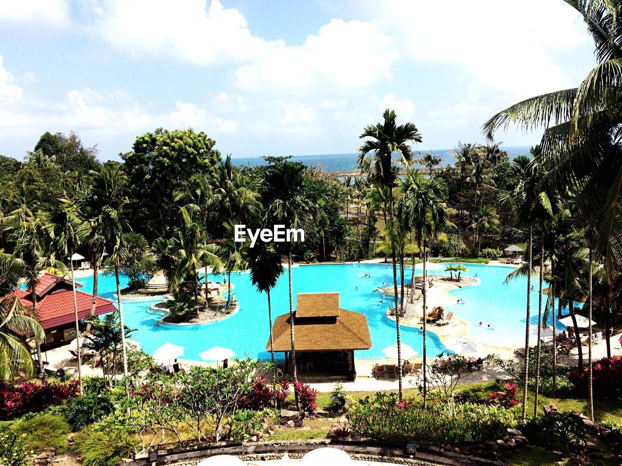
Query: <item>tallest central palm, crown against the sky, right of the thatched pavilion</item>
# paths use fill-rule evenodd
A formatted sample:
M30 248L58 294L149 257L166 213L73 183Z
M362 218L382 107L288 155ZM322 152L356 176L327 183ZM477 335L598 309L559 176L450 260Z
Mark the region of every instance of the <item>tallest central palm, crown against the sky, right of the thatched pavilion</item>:
M397 184L397 167L393 164L393 153L397 153L402 163L409 167L412 163L412 148L409 142L421 142L421 135L417 127L411 122L396 124L397 116L394 111L386 109L383 113L383 122L367 126L360 139L367 139L359 148L358 163L362 165L364 159L371 154L369 173L370 179L377 188L388 188L389 191L389 231L391 237L395 234L393 216L393 188ZM393 290L396 309L397 331L397 365L402 367L401 335L399 331L399 311L397 311L397 269L395 240L391 238L391 257L393 261ZM399 399L402 399L402 377L399 377Z

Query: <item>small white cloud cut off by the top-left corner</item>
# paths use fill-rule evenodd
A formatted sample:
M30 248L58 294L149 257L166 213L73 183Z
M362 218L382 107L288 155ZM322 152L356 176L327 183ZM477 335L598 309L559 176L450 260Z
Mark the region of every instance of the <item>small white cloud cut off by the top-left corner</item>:
M65 0L2 0L0 21L45 22L63 26L68 21L68 7Z

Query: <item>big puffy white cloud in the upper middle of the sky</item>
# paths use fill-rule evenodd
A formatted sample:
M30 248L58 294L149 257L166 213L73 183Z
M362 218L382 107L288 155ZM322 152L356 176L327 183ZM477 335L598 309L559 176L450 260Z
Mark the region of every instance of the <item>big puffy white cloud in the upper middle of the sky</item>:
M333 19L300 46L267 44L236 71L236 78L241 88L258 92L352 93L391 80L396 60L389 35L369 22Z

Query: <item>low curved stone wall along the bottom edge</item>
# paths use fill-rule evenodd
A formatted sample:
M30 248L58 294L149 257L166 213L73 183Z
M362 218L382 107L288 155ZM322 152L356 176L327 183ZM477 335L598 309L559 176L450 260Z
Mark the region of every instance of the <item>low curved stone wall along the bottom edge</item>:
M355 460L378 461L392 464L416 466L503 466L503 463L467 457L445 452L434 447L422 447L416 452L407 445L393 442L378 442L358 437L338 437L312 441L271 442L218 442L211 445L197 445L193 449L158 452L157 459L137 457L126 466L195 466L201 460L213 455L235 455L247 461L281 459L285 452L292 459L302 458L307 452L321 447L344 450Z

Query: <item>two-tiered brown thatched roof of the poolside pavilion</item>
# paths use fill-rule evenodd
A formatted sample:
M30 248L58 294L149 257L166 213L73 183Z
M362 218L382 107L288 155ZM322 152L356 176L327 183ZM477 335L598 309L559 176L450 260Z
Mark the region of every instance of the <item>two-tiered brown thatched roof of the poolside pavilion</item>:
M338 293L301 293L298 295L294 318L296 351L349 351L371 348L371 336L369 336L366 316L338 307L335 309L335 299L337 299L338 306ZM299 315L301 302L302 309L305 309L302 312L303 316ZM321 311L312 311L308 307L310 303L317 303ZM289 321L289 314L279 316L274 321L272 335L275 352L292 349ZM270 350L270 340L266 344L266 350Z

